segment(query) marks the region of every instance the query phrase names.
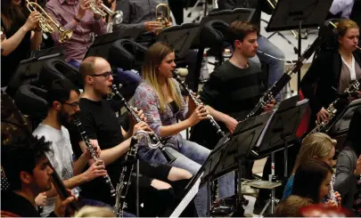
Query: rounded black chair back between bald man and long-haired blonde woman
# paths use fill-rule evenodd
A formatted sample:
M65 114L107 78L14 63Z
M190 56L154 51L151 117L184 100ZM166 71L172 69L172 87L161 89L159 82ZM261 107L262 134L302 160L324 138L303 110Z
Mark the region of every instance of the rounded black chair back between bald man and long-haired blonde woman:
M111 45L109 62L111 67L125 70L135 69L140 73L146 51L147 48L142 44L129 39L119 39Z

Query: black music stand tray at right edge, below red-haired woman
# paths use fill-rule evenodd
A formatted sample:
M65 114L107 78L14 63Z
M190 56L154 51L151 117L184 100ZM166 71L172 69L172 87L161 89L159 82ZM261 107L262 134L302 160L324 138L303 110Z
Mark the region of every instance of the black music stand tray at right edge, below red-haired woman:
M326 130L326 133L333 137L347 133L349 131L349 122L351 122L355 109L360 106L361 99L352 101L346 109L343 109L340 114L335 117L335 121Z

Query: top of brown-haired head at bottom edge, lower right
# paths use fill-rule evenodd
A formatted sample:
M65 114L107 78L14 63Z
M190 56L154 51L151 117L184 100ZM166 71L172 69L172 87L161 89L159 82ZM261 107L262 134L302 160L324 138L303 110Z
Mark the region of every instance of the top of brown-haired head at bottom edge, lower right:
M301 217L302 215L299 213L299 208L313 204L314 202L310 198L291 195L288 198L285 198L275 207L275 216Z

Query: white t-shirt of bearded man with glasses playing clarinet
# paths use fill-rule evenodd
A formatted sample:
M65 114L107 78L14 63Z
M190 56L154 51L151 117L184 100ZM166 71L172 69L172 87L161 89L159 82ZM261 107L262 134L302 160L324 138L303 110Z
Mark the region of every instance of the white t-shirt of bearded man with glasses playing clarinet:
M62 178L62 180L69 180L73 177L73 149L70 143L70 134L68 130L62 126L62 130L55 129L50 125L40 124L37 129L34 130L33 135L38 137L45 137L45 141L51 141L51 148L53 152L47 154L50 162L55 168L56 173ZM75 196L78 197L78 190L72 190ZM47 216L52 213L55 206L56 198L47 198L46 205L44 206L42 216Z

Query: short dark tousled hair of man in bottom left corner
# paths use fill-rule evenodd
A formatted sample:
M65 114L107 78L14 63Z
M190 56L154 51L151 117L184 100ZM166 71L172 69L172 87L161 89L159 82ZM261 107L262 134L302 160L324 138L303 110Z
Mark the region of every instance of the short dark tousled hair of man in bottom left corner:
M26 140L2 146L2 166L11 190L21 190L21 172L33 174L40 158L52 152L50 142L45 137L37 138L30 135Z

